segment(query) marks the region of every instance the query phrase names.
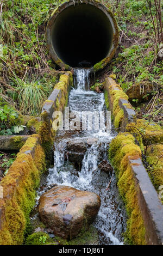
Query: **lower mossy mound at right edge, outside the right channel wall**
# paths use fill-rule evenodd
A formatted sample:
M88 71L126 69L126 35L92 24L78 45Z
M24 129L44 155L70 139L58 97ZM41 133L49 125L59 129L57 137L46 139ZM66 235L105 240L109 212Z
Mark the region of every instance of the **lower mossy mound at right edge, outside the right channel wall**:
M146 156L147 162L150 164L148 175L154 187L159 192L159 186L163 185L163 144L149 146Z

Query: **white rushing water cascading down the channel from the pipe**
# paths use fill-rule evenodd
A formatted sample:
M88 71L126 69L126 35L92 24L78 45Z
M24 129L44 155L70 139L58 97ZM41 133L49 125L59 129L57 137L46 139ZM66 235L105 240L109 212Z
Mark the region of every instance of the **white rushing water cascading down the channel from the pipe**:
M89 69L75 70L75 88L71 90L68 102L70 113L106 111L104 94L89 90L89 76ZM125 230L126 215L118 196L115 173L106 174L98 168L102 160L108 161L109 143L115 136L113 129L110 133L105 128L103 126L102 129L93 131L58 131L54 144L54 168L49 169L47 186L66 185L97 193L101 197L101 208L93 225L98 230L99 245L123 245L122 233ZM66 147L68 141L75 142L79 138L91 139L92 143L86 149L80 169L76 170L74 164L68 161ZM109 182L109 190L106 190Z

